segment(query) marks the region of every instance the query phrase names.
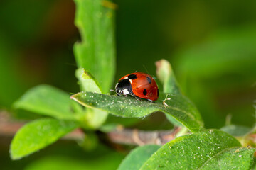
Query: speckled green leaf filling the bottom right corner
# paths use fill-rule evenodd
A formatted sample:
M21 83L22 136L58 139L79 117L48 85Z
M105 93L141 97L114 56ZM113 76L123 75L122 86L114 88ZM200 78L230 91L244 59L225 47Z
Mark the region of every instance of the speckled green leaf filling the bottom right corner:
M232 148L217 154L200 169L252 169L255 164L255 148Z

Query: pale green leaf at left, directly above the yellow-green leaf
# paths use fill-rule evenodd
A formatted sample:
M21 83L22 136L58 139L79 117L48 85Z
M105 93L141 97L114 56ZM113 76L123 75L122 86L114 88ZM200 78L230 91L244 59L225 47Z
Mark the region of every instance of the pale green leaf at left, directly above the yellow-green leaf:
M79 115L75 113L82 112L82 107L71 101L69 94L48 85L28 90L14 103L14 108L67 120L78 119Z

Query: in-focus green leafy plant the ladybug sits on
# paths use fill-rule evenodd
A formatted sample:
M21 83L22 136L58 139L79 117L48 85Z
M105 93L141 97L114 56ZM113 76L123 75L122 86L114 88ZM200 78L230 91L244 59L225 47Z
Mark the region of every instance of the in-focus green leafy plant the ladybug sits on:
M252 169L255 166L256 149L242 147L235 137L227 133L234 130L224 128L227 131L224 132L203 127L200 113L179 89L171 65L166 60L157 62L156 74L163 84L158 101L150 103L110 95L115 70L114 4L102 0L75 2L75 23L82 37L82 42L74 47L78 63L75 75L82 92L70 97L52 86L41 85L16 101L15 108L52 118L34 120L18 130L11 142L12 159L32 154L77 128L82 128L87 135L83 146L92 150L97 147L95 131L108 132L116 126L106 123L109 114L144 118L160 111L171 123L181 127L180 137L163 146L137 147L127 155L119 169ZM247 131L242 132L244 137L247 134Z

